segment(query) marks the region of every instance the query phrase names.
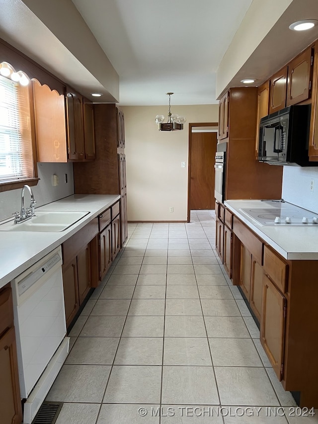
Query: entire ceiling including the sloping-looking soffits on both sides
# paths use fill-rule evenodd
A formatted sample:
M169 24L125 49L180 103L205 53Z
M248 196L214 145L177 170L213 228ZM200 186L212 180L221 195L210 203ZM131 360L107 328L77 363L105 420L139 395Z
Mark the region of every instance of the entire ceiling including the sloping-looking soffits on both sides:
M0 38L94 102L212 104L318 38L317 0L0 0ZM275 15L276 12L276 15Z

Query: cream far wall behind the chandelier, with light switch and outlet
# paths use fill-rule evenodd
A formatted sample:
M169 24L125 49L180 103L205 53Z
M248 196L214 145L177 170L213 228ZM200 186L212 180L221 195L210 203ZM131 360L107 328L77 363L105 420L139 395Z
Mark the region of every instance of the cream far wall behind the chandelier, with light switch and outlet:
M167 106L122 106L125 114L129 221L186 221L188 124L218 122L219 105L171 106L184 115L182 131L158 131L156 115ZM185 162L185 168L181 168ZM169 207L174 212L169 212Z

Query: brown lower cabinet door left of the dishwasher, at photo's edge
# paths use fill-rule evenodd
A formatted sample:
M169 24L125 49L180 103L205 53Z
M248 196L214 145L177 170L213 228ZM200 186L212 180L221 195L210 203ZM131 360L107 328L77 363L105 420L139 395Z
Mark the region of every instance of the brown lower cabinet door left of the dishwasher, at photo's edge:
M22 422L14 328L0 338L0 411L2 424Z

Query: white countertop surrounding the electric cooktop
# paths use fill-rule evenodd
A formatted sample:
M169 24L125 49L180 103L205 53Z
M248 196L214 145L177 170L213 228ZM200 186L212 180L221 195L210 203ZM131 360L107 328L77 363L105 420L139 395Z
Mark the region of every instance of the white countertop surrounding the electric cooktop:
M309 227L262 226L240 209L273 207L272 203L260 200L226 200L224 204L285 259L318 260L318 225Z

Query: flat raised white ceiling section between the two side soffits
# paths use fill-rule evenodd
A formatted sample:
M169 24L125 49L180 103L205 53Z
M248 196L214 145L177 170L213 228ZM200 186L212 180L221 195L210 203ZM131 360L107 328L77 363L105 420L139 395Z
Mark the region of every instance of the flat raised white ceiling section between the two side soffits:
M215 102L216 71L251 0L73 0L123 105Z

